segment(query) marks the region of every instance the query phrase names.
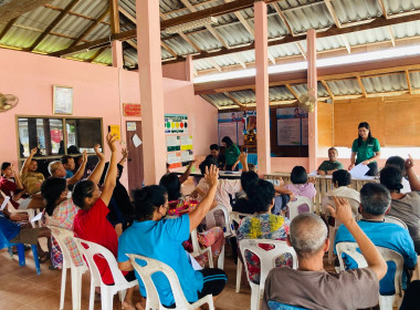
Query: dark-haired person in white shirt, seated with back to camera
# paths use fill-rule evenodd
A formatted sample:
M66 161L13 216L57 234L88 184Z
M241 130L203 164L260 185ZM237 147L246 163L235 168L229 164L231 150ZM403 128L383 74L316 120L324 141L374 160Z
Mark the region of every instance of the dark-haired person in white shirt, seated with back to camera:
M323 211L328 215L327 206L333 202L333 197L343 197L349 199L351 211L355 217L358 216L360 205L360 193L356 189L349 188L351 184L351 175L348 170L339 169L333 173L334 189L328 190L323 197Z

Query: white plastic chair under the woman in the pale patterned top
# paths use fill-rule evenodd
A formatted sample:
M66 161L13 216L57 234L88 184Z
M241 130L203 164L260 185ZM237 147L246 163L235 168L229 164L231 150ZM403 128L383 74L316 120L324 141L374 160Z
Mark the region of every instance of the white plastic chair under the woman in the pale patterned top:
M67 269L72 273L72 303L73 310L80 310L82 307L82 275L87 271L87 266L83 261L82 265L76 265L67 248L71 242L74 242L77 250L77 245L74 241L74 232L72 230L56 227L53 225L48 226L51 230L51 235L54 237L60 246L63 256L63 268L61 271L61 294L60 294L60 310L64 308L64 293L65 293L65 279L67 276ZM73 249L74 250L74 249ZM80 254L82 257L82 254ZM92 283L91 283L92 285Z

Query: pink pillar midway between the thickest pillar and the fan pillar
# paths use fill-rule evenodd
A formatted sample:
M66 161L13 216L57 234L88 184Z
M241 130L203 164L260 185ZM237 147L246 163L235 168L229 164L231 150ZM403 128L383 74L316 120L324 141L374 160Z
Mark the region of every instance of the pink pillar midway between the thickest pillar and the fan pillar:
M256 147L259 174L271 173L267 16L264 1L254 3Z

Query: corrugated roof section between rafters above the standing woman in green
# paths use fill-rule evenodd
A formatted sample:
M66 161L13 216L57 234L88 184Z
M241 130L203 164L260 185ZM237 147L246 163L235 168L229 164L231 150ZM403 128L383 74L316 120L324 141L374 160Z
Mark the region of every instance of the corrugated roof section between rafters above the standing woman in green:
M407 91L407 79L405 73L363 78L361 83L368 94Z

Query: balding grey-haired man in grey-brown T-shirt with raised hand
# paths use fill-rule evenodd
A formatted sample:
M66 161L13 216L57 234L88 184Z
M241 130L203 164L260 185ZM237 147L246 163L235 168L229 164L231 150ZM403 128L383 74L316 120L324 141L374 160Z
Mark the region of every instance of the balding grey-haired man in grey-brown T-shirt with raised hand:
M265 281L263 310L285 303L305 309L365 309L379 300L379 280L387 265L375 245L355 221L344 198L335 198L332 215L354 236L368 267L340 273L324 270L324 254L329 248L327 227L315 214L301 214L291 224L287 245L297 255L298 268L274 268Z

